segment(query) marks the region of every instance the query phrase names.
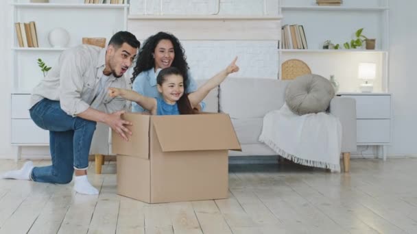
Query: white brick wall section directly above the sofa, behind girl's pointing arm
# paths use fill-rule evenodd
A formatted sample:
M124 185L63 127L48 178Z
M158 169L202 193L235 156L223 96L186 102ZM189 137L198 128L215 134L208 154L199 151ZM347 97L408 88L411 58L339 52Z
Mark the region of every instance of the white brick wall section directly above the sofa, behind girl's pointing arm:
M208 79L225 68L235 56L239 73L231 77L278 77L277 42L273 41L182 41L194 79Z

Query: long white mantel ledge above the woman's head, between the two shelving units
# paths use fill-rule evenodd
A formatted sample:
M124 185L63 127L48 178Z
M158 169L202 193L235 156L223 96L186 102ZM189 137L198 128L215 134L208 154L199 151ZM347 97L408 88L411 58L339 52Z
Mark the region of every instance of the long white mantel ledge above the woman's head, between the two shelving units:
M283 16L251 16L251 15L178 15L178 14L130 14L128 19L139 20L281 20Z

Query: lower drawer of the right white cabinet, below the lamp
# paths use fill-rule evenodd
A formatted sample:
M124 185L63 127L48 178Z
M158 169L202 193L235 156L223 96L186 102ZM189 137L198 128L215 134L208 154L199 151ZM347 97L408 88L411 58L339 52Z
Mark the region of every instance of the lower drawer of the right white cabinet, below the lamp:
M357 143L389 143L390 120L357 120Z

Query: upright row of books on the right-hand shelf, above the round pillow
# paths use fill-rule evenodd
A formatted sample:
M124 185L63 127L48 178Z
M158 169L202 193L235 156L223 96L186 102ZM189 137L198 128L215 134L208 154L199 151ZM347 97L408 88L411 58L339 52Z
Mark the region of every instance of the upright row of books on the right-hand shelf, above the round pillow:
M302 25L283 25L281 42L282 49L308 49Z

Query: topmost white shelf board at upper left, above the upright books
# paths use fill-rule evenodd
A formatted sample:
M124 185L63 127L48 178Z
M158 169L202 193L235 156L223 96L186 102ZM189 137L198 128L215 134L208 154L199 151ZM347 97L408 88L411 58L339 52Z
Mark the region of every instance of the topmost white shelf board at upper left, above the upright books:
M12 3L18 8L127 8L128 4Z

